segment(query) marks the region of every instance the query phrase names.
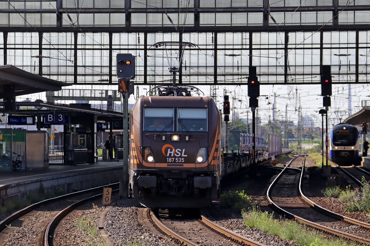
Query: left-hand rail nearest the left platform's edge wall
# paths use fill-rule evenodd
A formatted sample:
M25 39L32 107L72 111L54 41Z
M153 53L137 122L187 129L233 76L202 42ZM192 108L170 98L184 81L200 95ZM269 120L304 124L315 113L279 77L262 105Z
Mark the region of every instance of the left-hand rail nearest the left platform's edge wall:
M113 183L113 184L110 184L110 186L112 185L118 185L119 183ZM74 193L70 193L70 194L67 194L67 195L61 195L59 197L54 197L54 198L50 198L50 199L47 199L47 200L44 200L44 201L41 201L41 202L37 202L35 204L32 204L26 208L23 208L17 212L15 212L14 214L11 214L10 216L6 217L3 221L0 222L0 230L2 230L3 228L6 227L6 225L9 225L11 224L11 222L13 222L14 220L16 220L17 218L20 218L21 216L25 215L25 214L28 214L29 212L31 212L32 210L38 208L38 207L41 207L43 205L46 205L46 204L49 204L51 202L56 202L56 201L60 201L60 200L63 200L65 198L70 198L70 197L74 197L76 195L82 195L82 194L85 194L85 193L89 193L91 191L95 191L95 190L98 190L98 189L101 189L103 187L106 187L107 185L105 186L99 186L99 187L95 187L95 188L91 188L91 189L87 189L87 190L83 190L83 191L78 191L78 192L74 192Z

